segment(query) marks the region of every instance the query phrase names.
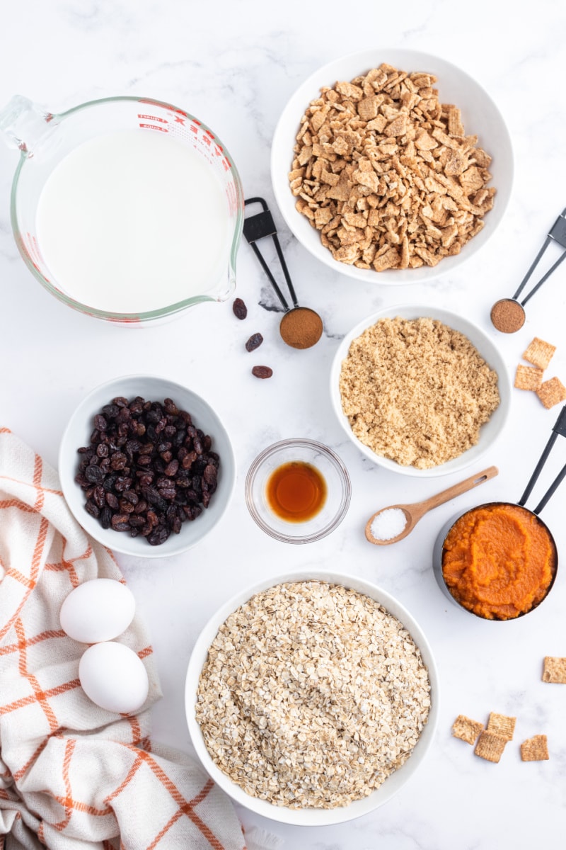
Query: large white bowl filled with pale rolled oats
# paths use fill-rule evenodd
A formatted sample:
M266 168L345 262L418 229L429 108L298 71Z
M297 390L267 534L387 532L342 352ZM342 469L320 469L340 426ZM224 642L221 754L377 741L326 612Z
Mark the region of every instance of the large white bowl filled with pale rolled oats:
M383 805L419 768L438 674L389 593L301 570L238 592L210 618L185 710L200 761L235 802L285 824L331 825Z

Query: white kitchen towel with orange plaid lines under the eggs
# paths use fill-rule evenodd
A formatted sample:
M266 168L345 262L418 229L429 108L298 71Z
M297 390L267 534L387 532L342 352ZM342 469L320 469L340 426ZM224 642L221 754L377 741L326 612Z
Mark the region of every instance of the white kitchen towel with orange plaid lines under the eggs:
M143 709L112 714L81 689L85 646L61 630L59 609L102 576L123 581L73 519L57 473L0 428L0 850L244 850L227 796L149 739L161 694L138 617L119 639L148 671Z

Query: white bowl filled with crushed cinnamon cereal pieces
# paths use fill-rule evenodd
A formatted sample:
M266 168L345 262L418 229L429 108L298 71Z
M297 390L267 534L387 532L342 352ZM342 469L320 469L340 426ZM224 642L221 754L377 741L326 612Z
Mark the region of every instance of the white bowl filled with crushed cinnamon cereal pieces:
M285 222L322 263L366 282L419 283L453 272L494 233L511 195L513 147L490 95L465 71L375 48L300 85L277 122L271 168Z

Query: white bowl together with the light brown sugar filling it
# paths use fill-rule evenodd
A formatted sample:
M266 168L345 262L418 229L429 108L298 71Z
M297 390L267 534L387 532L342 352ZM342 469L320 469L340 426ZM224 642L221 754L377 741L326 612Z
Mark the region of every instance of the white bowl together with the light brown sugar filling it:
M424 305L379 310L347 333L330 371L333 410L369 460L431 478L479 460L505 428L511 381L477 325Z

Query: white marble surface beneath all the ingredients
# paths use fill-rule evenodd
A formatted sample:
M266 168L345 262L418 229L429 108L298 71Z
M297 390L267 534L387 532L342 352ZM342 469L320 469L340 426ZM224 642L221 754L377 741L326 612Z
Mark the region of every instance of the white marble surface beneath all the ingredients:
M349 10L350 14L347 14ZM163 561L118 558L153 633L163 700L154 736L190 751L183 682L199 629L218 604L260 577L309 564L349 570L395 594L429 636L442 684L434 747L410 783L384 808L350 824L297 829L241 810L244 825L261 824L296 850L491 850L559 847L566 827L566 688L541 683L544 655L566 655L564 576L552 596L521 621L476 621L446 604L431 570L434 538L457 511L479 501L515 500L534 467L559 408L546 411L534 394L513 393L507 433L485 456L497 479L429 514L406 541L377 548L363 527L378 507L417 501L457 478L415 481L385 473L345 439L328 400L328 370L339 339L382 305L423 302L463 312L500 346L509 371L533 336L558 345L549 374L566 382L566 271L533 299L528 321L505 337L490 326L496 297L511 295L564 206L563 3L498 5L453 2L285 3L217 0L52 0L11 3L0 28L0 105L24 94L51 111L115 94L171 101L216 129L232 152L246 195L272 201L269 151L277 116L294 88L319 65L356 49L386 44L439 54L489 92L506 118L516 157L513 196L492 240L450 277L399 290L352 283L329 273L280 227L302 301L324 320L309 351L278 339L279 315L261 269L243 244L238 295L246 323L230 303L206 304L161 327L129 331L76 314L32 278L9 224L9 187L17 153L0 144L0 423L55 464L70 412L90 388L120 373L163 372L188 383L225 419L238 456L232 504L217 533L188 555ZM260 330L262 362L274 376L249 374L243 343ZM353 496L332 536L305 547L273 541L244 504L245 473L272 441L319 439L344 459ZM539 492L566 460L558 441ZM480 467L475 467L480 468ZM474 469L470 470L470 473ZM560 557L566 551L558 491L544 519ZM532 506L531 506L532 507ZM490 711L518 717L515 740L499 764L477 757L451 737L459 713L485 720ZM518 743L548 735L550 761L523 763Z

